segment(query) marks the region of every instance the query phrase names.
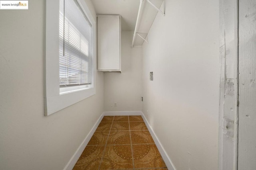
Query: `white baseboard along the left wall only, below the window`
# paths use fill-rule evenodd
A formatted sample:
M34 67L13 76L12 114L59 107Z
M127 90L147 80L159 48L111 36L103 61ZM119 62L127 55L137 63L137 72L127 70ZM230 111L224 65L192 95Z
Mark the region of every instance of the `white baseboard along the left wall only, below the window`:
M85 137L84 141L81 143L81 145L78 147L78 149L76 150L75 154L72 156L72 158L69 160L68 164L66 165L66 167L64 168L64 170L72 170L77 162L77 160L79 159L79 157L81 156L82 152L84 151L86 145L89 143L92 135L94 134L94 132L96 131L98 125L100 124L100 121L103 118L103 114L100 115L99 119L96 121L96 123L94 124L94 126L92 127L92 130L88 133L88 135Z

